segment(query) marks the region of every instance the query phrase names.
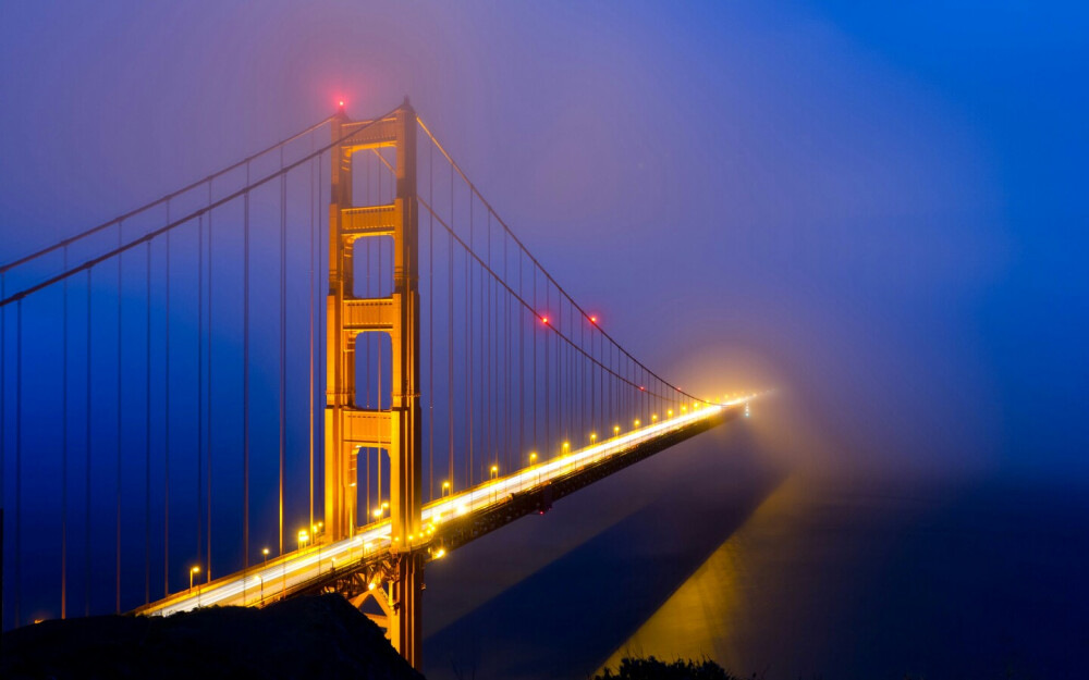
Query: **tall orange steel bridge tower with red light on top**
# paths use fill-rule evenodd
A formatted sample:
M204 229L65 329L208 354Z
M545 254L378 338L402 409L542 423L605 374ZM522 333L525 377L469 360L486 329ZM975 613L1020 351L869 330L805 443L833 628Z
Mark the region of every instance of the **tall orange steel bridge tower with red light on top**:
M355 132L357 131L357 132ZM353 134L354 133L354 134ZM393 646L419 667L424 580L421 529L418 210L416 203L416 113L404 104L380 121L332 122L329 206L329 296L326 392L327 540L351 536L367 521L358 510L356 452L377 448L390 459L392 564L388 572L388 631ZM396 198L392 205L355 207L352 158L359 151L393 147ZM393 237L393 292L360 298L353 290L353 248L362 238ZM355 344L360 333L386 333L392 346L390 409L359 408L355 390ZM379 589L382 597L386 594ZM378 595L376 595L377 597Z

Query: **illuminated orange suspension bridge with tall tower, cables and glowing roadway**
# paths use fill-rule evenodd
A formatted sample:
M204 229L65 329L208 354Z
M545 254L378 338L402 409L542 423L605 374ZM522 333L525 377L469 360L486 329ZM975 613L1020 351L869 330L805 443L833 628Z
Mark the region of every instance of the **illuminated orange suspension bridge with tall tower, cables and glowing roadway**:
M0 267L4 628L337 592L726 420L612 337L407 99Z

